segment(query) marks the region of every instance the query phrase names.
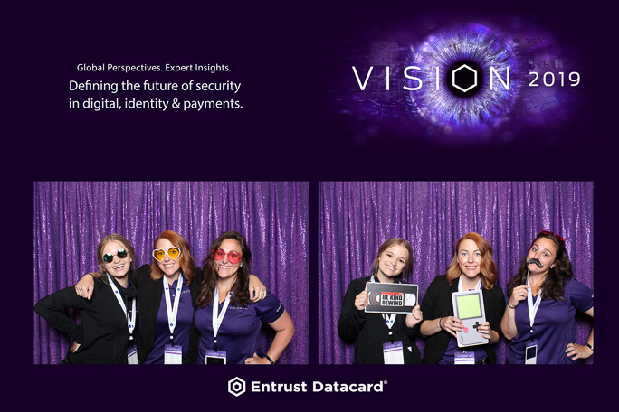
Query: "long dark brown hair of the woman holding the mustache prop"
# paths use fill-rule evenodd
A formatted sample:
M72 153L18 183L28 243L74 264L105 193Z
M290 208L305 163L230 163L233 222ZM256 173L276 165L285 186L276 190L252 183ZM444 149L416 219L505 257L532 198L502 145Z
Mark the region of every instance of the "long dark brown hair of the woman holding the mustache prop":
M529 250L533 248L533 245L540 238L550 239L557 248L557 257L555 258L554 267L548 268L548 274L544 278L544 284L542 286L541 295L545 299L557 299L563 298L563 293L566 288L566 278L573 278L574 272L572 271L572 264L567 257L566 241L553 232L543 230L535 237L531 246L527 249L524 259L520 264L518 273L509 280L508 295L514 290L514 287L527 284L527 275L529 275L529 265L527 265L527 256Z

